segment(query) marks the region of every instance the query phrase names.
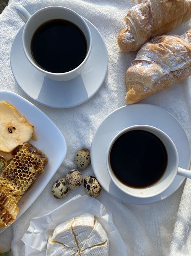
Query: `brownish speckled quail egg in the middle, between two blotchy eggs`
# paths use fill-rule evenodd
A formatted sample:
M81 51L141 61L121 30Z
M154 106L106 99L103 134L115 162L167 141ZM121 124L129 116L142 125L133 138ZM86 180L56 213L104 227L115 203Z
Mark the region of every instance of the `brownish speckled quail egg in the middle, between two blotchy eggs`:
M76 169L70 170L66 174L66 185L71 189L79 188L83 183L83 176L80 171Z

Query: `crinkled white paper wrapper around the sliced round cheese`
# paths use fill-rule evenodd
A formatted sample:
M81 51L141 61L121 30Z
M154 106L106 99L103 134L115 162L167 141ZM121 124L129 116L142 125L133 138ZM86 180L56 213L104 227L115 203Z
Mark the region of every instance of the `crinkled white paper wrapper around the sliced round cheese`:
M113 224L112 214L98 200L87 195L83 197L76 195L50 213L32 218L30 226L19 244L18 255L45 256L48 238L55 227L76 215L86 212L92 213L104 227L109 238L109 255L126 256L126 246Z

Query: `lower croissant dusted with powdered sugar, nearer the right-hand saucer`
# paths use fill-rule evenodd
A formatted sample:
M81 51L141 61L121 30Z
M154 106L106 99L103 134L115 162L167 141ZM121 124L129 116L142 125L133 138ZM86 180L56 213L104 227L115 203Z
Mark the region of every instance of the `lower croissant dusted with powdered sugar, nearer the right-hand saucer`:
M126 101L133 104L191 74L191 29L144 44L125 74Z

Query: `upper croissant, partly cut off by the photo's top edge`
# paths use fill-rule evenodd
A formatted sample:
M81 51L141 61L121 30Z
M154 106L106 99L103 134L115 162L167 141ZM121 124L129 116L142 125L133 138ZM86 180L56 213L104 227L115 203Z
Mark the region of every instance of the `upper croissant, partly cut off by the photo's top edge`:
M135 51L151 38L164 35L191 18L191 0L139 0L126 15L118 35L122 51Z

